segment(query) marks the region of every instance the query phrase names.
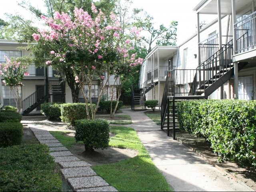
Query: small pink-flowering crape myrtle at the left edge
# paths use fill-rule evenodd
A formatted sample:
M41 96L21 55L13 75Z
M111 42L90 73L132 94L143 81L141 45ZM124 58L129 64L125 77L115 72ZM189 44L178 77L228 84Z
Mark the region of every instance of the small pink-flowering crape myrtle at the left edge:
M19 58L11 58L8 59L4 56L6 63L0 64L0 75L4 79L3 82L6 86L10 86L10 90L13 94L14 101L16 103L16 108L18 108L18 112L20 112L22 108L22 98L20 87L23 86L22 79L24 76L28 76L28 65L19 62Z

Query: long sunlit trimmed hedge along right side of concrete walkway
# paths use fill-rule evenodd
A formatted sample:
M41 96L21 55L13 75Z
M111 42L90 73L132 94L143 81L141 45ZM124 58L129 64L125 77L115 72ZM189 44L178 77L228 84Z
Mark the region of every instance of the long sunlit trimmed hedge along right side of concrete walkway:
M197 100L179 102L181 129L204 136L223 160L256 166L256 101Z

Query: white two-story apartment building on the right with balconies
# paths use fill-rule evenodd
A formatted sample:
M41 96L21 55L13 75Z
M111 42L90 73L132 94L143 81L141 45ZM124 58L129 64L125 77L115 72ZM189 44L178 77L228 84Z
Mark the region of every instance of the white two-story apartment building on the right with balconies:
M140 86L146 99L162 102L167 68L175 70L172 96L254 99L254 3L253 0L202 0L194 8L198 32L177 47L156 46L146 56L140 72ZM200 28L200 18L205 14L216 14L216 19ZM211 78L215 79L210 81ZM196 85L192 86L193 82Z

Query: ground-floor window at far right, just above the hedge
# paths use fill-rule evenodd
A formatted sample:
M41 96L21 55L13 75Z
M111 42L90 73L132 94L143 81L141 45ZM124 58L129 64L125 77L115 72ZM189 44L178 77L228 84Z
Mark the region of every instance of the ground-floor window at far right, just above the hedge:
M253 92L253 78L252 76L238 78L238 99L252 100Z

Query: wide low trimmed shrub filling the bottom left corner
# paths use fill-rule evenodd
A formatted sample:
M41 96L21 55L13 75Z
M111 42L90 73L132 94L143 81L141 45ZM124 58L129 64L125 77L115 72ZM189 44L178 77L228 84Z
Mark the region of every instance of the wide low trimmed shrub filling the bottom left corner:
M0 191L61 191L54 158L42 144L0 148Z

